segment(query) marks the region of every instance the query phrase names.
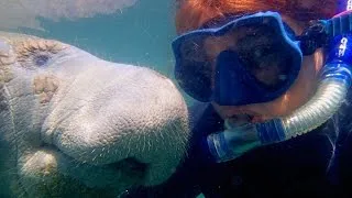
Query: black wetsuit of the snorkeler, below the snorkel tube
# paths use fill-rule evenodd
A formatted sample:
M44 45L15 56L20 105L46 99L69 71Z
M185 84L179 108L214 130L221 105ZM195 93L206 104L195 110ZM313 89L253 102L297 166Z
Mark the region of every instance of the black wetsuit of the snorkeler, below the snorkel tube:
M315 131L258 147L222 164L208 161L200 145L223 121L210 105L190 109L188 158L172 178L127 197L352 197L352 95L339 112Z

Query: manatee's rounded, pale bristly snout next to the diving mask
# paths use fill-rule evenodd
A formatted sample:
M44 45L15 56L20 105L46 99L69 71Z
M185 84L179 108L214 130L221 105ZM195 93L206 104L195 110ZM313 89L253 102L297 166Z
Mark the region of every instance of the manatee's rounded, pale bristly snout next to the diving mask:
M46 142L64 154L96 166L138 166L145 185L164 182L185 154L187 108L174 84L143 67L101 63L75 78L56 97ZM89 78L91 77L91 78ZM89 86L85 85L89 81ZM75 108L68 108L70 106ZM77 105L77 106L75 106ZM52 124L63 110L75 109ZM141 173L139 173L141 174Z

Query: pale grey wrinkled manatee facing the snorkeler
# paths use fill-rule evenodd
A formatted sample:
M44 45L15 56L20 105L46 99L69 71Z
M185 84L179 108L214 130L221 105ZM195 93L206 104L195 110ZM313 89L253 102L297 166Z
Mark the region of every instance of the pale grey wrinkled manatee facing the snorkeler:
M164 183L189 140L166 77L0 32L0 197L117 197Z

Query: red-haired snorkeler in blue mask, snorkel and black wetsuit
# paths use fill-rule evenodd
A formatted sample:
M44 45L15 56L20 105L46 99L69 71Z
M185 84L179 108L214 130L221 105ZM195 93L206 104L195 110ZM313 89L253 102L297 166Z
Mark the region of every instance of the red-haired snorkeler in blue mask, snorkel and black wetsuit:
M139 197L352 197L348 0L180 0L187 158ZM339 13L339 14L337 14Z

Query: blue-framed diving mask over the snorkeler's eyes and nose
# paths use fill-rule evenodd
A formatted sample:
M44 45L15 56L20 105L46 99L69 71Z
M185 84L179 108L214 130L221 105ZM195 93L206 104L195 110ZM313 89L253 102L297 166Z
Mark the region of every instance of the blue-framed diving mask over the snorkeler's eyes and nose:
M271 11L210 21L173 42L175 77L199 101L221 106L271 101L294 84L302 55L319 47L307 38L296 36ZM208 46L217 41L222 46L213 55Z

